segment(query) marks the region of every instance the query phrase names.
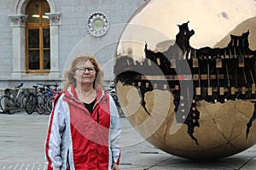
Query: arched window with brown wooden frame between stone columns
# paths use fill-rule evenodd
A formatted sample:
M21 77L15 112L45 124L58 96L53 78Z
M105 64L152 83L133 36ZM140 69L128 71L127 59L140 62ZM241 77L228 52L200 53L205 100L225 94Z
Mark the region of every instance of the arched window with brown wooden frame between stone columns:
M31 0L26 6L26 72L50 70L49 11L46 0Z

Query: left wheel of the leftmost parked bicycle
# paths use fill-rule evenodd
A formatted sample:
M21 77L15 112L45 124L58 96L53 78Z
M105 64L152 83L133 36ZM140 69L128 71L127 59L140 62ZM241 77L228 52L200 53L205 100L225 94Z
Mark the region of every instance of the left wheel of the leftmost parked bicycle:
M14 114L16 111L15 99L11 99L8 95L3 95L0 99L1 109L7 114Z

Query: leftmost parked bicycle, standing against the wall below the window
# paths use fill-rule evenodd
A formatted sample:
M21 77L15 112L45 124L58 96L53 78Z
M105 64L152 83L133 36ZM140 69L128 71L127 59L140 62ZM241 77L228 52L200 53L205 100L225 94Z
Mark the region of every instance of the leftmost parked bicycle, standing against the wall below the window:
M22 90L23 83L18 88L18 93L16 95L11 93L11 89L7 88L5 90L5 95L0 98L0 106L2 111L7 114L14 114L18 109L24 108L24 101L26 101L26 94Z

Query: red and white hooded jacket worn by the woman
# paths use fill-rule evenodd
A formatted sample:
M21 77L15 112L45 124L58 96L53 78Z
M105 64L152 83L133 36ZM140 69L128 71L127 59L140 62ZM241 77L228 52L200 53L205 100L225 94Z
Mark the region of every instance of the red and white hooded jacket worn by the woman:
M93 113L74 87L55 97L45 142L48 169L110 170L119 164L121 128L112 97L97 90Z

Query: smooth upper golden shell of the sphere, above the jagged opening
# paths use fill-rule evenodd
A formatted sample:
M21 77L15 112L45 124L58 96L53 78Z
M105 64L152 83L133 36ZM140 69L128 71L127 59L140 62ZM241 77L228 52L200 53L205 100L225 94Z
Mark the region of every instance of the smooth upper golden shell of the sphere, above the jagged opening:
M189 28L195 30L190 39L194 48L226 47L230 34L240 36L249 30L250 48L255 50L255 3L254 0L212 0L207 3L205 0L150 0L132 15L119 39L116 54L131 54L141 60L145 42L150 49L165 51L175 42L177 25L188 21Z

